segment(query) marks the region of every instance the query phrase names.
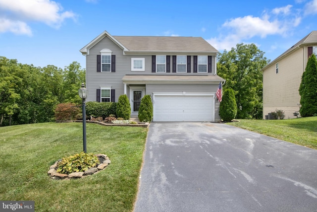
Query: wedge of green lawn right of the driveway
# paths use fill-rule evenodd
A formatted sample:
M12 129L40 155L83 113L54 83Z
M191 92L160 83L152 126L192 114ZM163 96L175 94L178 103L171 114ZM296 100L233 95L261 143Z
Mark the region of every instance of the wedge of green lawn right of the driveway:
M317 117L239 121L227 124L317 149Z

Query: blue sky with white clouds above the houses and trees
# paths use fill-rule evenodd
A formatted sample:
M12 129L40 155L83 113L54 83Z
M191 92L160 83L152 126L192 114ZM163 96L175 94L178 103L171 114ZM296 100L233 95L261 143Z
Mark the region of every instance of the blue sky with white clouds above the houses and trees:
M22 64L85 68L79 50L105 30L255 43L274 60L317 30L317 0L0 0L0 56Z

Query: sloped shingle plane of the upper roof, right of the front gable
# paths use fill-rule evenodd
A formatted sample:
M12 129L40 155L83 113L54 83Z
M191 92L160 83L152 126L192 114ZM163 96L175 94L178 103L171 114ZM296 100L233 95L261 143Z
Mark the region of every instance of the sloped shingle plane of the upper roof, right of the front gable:
M129 51L218 52L202 37L113 36Z

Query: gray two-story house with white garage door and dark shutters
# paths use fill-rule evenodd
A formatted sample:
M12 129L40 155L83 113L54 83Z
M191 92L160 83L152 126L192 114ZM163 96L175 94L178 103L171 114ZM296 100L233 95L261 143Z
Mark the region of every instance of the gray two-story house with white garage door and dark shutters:
M111 36L104 31L86 56L87 101L117 102L126 94L131 116L151 95L154 122L220 121L218 51L201 37Z

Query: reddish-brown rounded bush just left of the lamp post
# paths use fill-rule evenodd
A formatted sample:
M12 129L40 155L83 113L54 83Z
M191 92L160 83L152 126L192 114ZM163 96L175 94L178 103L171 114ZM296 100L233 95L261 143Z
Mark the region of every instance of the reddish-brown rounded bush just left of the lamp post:
M73 106L75 106L73 103L58 104L55 109L56 121L76 120L81 110Z

